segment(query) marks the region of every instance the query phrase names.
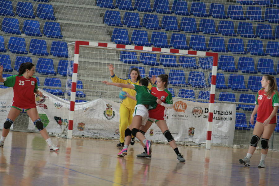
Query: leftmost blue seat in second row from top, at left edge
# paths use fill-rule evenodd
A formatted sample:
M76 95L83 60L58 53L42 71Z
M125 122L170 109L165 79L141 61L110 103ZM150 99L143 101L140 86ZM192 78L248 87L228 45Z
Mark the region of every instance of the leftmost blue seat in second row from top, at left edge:
M4 19L2 21L1 31L3 31L5 33L20 35L21 32L20 32L20 28L19 28L18 19L4 17Z

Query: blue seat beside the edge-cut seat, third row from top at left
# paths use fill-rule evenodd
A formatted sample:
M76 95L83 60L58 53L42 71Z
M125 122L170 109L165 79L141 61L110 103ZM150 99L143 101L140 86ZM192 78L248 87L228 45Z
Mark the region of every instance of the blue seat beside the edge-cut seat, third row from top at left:
M8 50L14 54L28 54L24 38L11 37L8 42Z

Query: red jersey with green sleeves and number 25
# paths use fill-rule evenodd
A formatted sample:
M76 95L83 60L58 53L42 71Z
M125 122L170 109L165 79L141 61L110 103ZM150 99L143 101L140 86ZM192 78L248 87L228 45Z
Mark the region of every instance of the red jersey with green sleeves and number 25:
M36 108L34 92L37 91L37 79L24 78L22 75L4 78L4 85L13 87L13 105L18 108Z

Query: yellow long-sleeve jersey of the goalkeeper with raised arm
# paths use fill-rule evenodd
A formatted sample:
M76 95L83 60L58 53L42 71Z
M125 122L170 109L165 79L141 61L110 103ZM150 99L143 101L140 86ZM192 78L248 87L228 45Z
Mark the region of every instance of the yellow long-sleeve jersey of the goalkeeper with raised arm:
M139 81L137 82L132 82L131 79L121 79L121 78L118 78L115 74L113 76L110 77L112 82L114 83L124 83L124 84L127 84L127 85L130 85L130 84L134 84L134 85L139 85ZM152 87L151 84L148 85L148 89L150 90ZM136 91L134 89L130 89L130 88L122 88L123 91L127 92L128 94L132 95L132 96L135 96L136 95ZM132 108L134 109L135 108L135 105L136 105L136 101L131 99L131 98L126 98L124 100L122 100L121 104L123 104L125 107L127 108Z

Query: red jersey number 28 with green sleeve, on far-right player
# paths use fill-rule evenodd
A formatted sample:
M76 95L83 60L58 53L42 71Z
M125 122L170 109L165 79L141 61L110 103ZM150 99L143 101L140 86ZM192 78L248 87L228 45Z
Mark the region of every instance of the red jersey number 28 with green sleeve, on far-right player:
M278 94L272 92L272 96L265 95L264 89L259 90L257 93L256 103L258 104L257 121L263 123L272 113L274 106L279 106ZM270 123L277 123L276 115L270 120Z

